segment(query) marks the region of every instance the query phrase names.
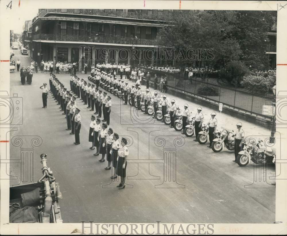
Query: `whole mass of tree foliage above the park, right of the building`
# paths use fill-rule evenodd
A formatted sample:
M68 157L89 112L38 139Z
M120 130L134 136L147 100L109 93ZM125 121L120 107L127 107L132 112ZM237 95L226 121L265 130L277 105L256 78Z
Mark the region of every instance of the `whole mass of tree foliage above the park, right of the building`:
M194 60L178 57L181 68L198 66L206 68L205 78L211 68L222 69L230 61L241 60L252 69L268 66L265 54L267 32L274 25L276 12L272 11L173 11L172 23L164 25L158 33L158 45L173 48L175 54L187 55L195 49ZM200 50L210 50L212 58L200 57ZM190 52L191 51L191 52ZM199 52L198 52L199 51ZM205 52L206 53L206 52Z

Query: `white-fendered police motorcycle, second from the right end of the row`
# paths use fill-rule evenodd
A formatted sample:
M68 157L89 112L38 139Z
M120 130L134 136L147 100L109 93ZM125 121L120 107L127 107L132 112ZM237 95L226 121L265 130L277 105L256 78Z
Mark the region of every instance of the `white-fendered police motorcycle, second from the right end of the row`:
M211 148L214 152L220 152L223 147L226 147L228 150L234 150L234 131L229 131L228 129L221 128L221 131L215 131L215 139L212 140Z

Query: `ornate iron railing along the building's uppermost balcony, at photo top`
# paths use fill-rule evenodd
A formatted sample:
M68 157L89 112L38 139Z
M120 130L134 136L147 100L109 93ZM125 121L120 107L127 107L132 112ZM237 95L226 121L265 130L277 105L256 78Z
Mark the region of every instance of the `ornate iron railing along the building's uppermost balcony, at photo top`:
M47 12L55 13L72 13L72 14L85 14L85 15L103 15L103 16L113 16L113 17L125 17L134 19L150 19L150 20L160 20L168 21L169 16L172 14L168 10L152 12L152 14L144 14L141 12L133 11L112 11L112 10L100 10L100 9L42 9L38 17L44 16ZM33 19L33 22L37 17Z

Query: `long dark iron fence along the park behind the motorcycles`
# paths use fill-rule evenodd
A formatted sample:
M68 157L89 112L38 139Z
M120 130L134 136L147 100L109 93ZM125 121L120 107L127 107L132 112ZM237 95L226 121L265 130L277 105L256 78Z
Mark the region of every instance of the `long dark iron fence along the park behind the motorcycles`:
M158 83L160 83L160 78L162 76L166 77L167 89L176 89L177 91L196 95L209 101L222 103L234 110L244 111L245 113L261 116L263 118L273 119L273 116L262 114L263 105L272 106L272 102L274 101L273 94L262 95L255 92L251 93L244 89L222 86L198 79L189 79L177 74L166 73L144 67L139 67L139 69L145 74L150 72L152 82L154 82L155 74L158 77Z

